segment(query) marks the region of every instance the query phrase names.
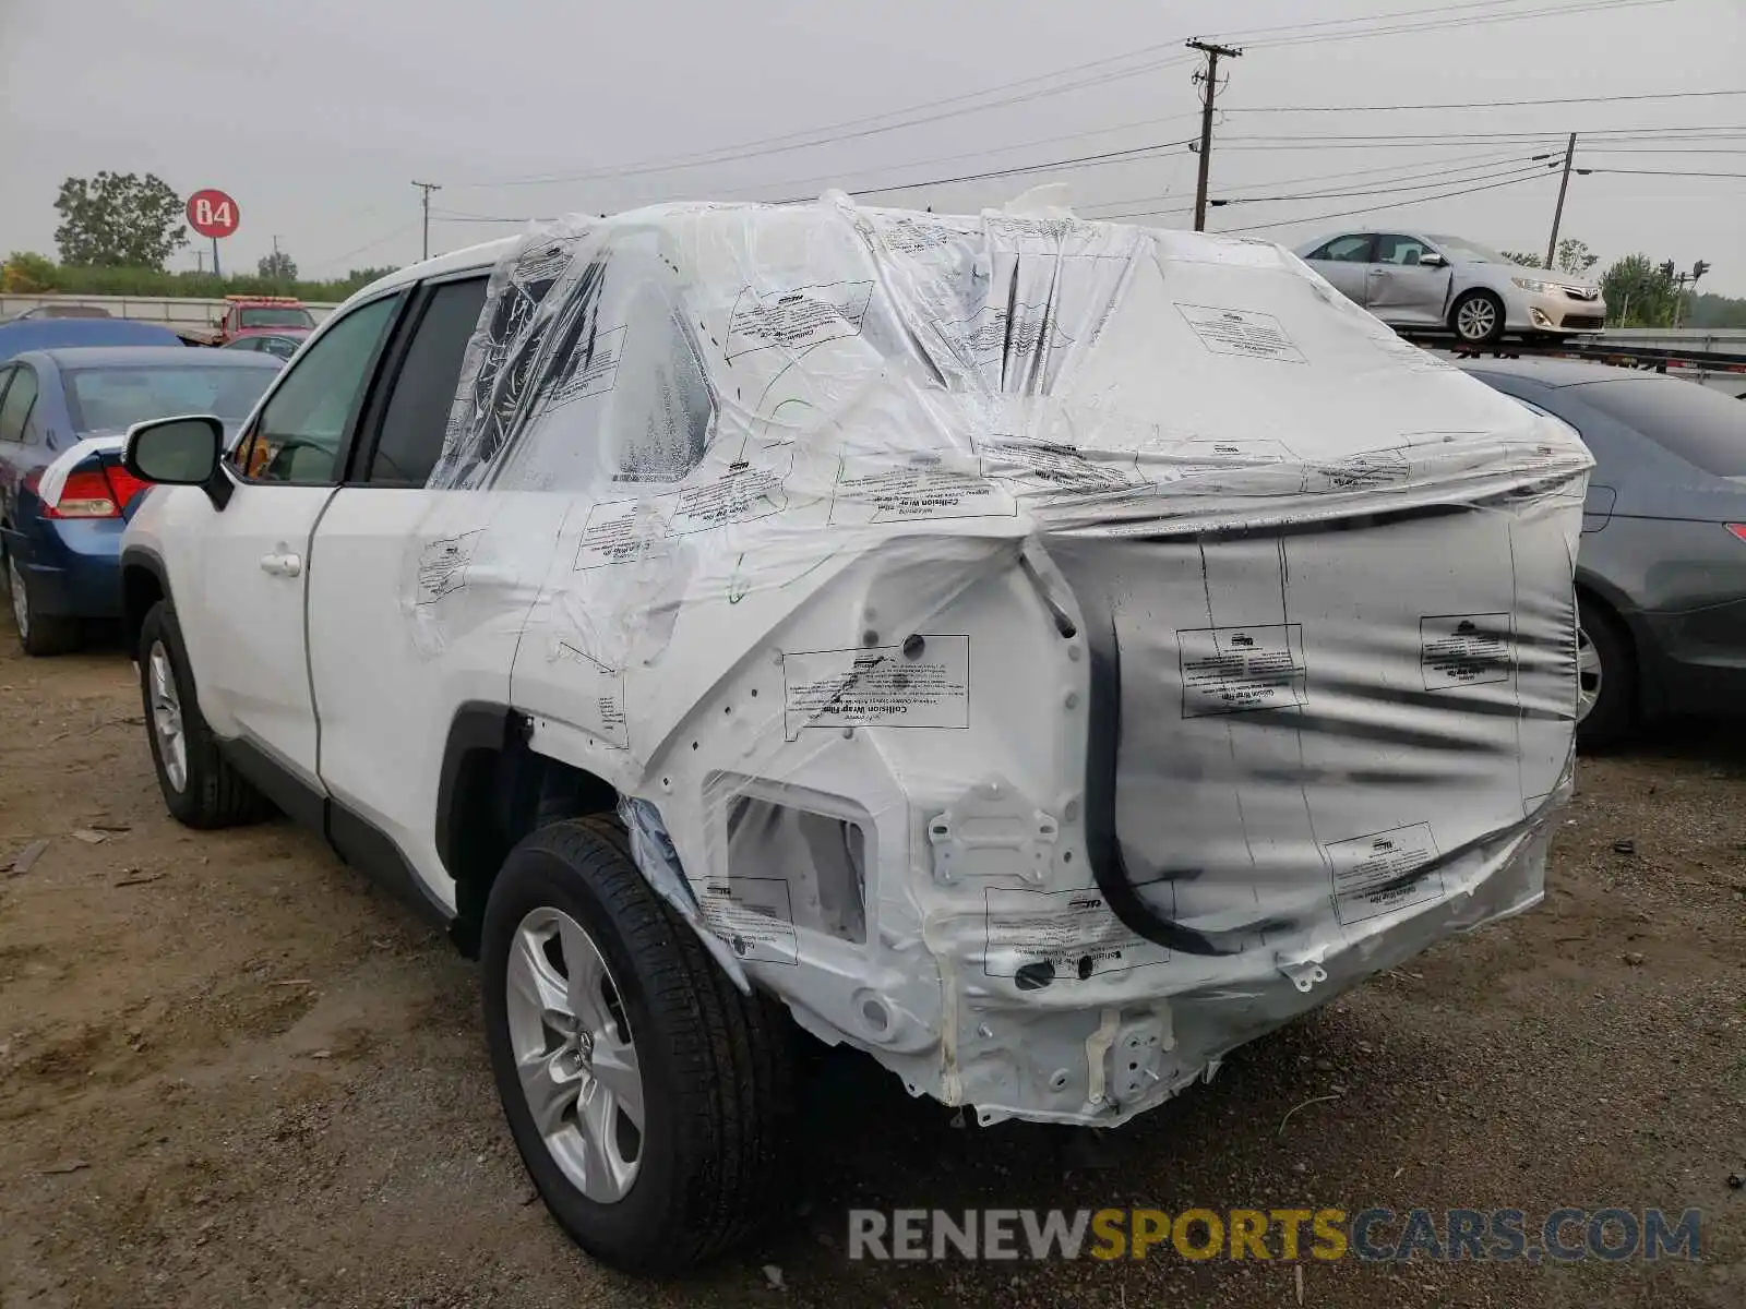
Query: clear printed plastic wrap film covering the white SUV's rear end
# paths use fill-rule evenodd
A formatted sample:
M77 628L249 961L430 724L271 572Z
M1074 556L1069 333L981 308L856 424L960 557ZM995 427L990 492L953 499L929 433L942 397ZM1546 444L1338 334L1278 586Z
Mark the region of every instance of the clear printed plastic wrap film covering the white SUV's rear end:
M405 613L740 984L1112 1124L1538 901L1589 466L1271 244L672 206L498 260Z

